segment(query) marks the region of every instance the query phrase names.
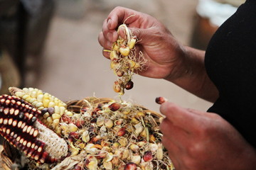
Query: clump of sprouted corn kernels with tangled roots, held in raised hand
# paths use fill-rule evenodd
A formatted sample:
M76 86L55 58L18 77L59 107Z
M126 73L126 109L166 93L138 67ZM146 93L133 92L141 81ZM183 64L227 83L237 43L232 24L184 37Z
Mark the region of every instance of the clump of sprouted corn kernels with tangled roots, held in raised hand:
M117 81L114 81L113 89L119 95L123 95L124 89L133 88L132 75L136 70L145 69L146 59L141 51L138 53L139 56L136 56L135 44L138 40L132 31L127 28L125 23L118 27L117 33L120 28L124 28L124 38L119 35L118 40L113 43L112 49L105 51L110 52L110 67L118 77Z

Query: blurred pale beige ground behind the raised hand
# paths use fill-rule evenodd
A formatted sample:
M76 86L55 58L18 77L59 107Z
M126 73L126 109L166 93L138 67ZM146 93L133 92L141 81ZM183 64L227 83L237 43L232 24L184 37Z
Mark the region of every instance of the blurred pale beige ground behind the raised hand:
M198 3L196 0L78 0L73 4L70 4L70 0L56 2L56 12L41 63L43 69L36 77L36 83L27 81L26 86L47 91L63 101L86 96L117 98L112 90L116 77L110 70L110 61L102 56L102 47L97 42L102 22L112 8L124 6L149 13L162 21L180 42L190 45ZM134 89L126 91L122 98L153 111L159 111L159 106L154 102L157 96L164 96L180 106L202 111L211 106L211 103L188 94L168 81L139 75L135 75L133 80Z

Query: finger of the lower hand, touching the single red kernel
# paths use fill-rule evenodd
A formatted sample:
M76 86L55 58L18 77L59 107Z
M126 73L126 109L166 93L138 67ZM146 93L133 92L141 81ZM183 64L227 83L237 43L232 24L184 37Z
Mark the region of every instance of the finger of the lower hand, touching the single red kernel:
M160 112L166 115L166 119L187 132L198 129L200 126L199 115L191 113L186 108L181 108L174 103L164 102L160 106Z

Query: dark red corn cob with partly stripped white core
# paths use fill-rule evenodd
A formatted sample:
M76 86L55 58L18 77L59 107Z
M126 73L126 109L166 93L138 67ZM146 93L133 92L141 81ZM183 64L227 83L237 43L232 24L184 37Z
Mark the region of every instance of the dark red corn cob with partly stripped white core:
M53 163L68 154L68 145L38 120L41 111L16 96L0 96L0 134L29 159Z

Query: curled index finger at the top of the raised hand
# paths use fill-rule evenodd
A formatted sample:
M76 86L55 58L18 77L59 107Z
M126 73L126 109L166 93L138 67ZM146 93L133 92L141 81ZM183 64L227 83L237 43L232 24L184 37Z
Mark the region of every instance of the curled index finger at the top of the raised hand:
M124 21L126 24L133 23L137 20L137 17L139 17L137 13L139 12L129 8L117 6L110 12L110 15L107 17L107 27L110 30L114 30L117 28L117 26L124 23Z

